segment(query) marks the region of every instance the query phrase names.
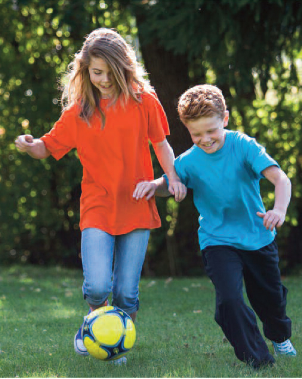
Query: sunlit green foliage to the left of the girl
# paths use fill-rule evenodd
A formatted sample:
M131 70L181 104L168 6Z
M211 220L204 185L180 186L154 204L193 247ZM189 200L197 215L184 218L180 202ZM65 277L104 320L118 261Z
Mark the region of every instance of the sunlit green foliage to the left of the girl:
M0 0L0 260L79 264L81 165L17 152L20 134L39 138L60 116L58 81L84 36L114 27L129 42L133 17L117 5Z

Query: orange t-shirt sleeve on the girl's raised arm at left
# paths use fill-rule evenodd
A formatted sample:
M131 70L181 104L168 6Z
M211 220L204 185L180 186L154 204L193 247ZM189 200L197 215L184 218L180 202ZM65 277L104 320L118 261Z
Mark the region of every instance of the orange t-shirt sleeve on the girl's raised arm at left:
M62 113L53 128L41 137L47 150L56 159L61 159L76 147L76 112L70 108Z

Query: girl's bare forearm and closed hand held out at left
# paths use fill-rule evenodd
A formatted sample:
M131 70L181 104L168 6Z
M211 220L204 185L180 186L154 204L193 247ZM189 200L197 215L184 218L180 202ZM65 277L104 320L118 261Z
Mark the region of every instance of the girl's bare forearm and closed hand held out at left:
M15 145L20 152L26 152L35 159L44 159L50 156L42 139L33 138L30 134L18 136Z

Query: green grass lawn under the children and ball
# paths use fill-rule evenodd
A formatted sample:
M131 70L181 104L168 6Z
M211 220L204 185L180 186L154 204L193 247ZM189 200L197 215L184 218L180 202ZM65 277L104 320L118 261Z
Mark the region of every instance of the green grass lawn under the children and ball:
M0 377L302 377L300 277L283 280L297 357L278 357L258 371L223 342L206 277L141 281L137 340L126 366L77 356L73 337L87 312L82 280L75 270L0 269Z

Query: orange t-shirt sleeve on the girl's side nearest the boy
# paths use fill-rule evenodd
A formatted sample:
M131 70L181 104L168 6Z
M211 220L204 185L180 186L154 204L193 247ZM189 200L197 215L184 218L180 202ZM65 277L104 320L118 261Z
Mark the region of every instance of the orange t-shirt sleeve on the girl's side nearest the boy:
M148 109L148 138L152 144L159 143L170 134L167 116L156 94L144 96Z

